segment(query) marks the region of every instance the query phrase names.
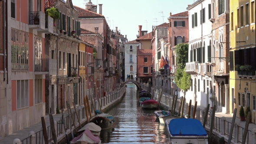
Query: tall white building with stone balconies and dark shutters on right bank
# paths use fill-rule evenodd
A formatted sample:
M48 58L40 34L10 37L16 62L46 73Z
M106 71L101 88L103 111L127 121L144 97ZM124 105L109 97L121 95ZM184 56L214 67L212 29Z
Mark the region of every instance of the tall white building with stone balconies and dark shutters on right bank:
M211 46L211 0L197 0L187 7L189 13L189 52L186 72L191 75L191 87L186 92L186 102L206 107L213 93L212 66L207 62Z

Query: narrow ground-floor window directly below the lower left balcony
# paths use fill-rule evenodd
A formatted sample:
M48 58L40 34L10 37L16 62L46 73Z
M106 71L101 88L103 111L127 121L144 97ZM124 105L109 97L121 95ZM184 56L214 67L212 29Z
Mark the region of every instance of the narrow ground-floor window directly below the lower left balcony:
M42 79L35 79L35 104L42 103L42 87L43 87L43 82Z

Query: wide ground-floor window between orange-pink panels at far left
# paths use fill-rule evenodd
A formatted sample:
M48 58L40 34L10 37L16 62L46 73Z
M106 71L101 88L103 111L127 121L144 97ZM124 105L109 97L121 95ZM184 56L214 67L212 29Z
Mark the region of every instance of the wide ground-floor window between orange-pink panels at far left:
M29 80L17 80L17 108L29 106Z

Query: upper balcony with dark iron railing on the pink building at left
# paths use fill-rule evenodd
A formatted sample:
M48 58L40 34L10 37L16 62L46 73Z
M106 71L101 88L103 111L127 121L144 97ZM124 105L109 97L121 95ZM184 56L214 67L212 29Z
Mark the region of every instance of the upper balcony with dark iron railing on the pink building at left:
M45 13L42 11L29 11L29 28L45 29Z

